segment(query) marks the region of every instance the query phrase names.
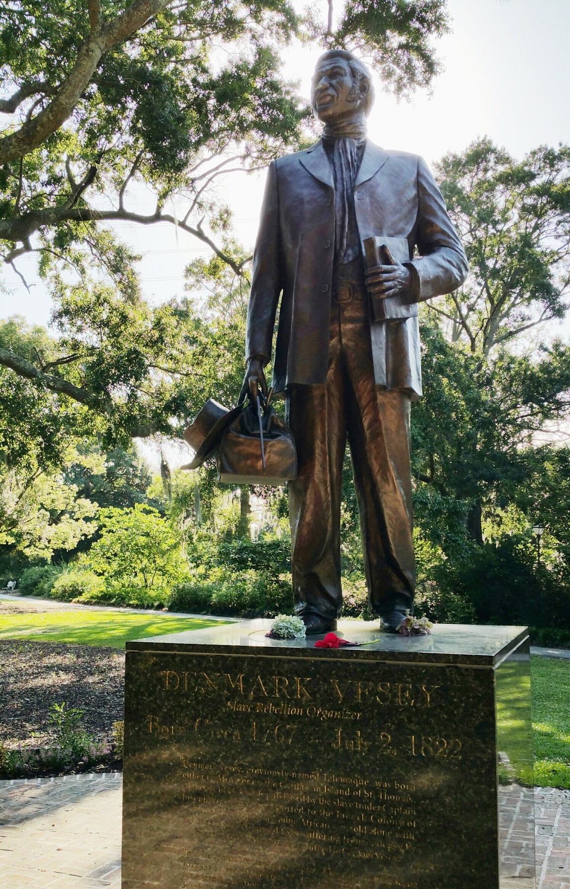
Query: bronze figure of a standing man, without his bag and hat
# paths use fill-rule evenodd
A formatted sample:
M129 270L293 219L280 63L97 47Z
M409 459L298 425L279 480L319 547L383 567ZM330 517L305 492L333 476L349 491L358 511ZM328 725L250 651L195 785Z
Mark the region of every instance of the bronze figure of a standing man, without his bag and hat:
M334 627L342 608L347 439L371 611L395 630L413 607L417 304L455 290L468 271L424 160L367 140L373 101L368 69L352 53L321 56L312 104L322 138L271 164L253 260L246 380L256 377L266 391L281 296L273 387L285 395L297 445L298 476L289 483L293 588L295 613L310 634ZM395 261L366 270L363 242L376 236ZM379 320L373 302L385 307Z

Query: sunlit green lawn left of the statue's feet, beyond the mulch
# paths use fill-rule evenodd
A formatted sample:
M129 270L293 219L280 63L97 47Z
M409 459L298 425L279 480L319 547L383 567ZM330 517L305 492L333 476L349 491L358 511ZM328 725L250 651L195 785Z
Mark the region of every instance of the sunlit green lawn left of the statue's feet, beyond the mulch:
M186 629L212 627L220 621L201 621L171 614L116 611L61 611L0 615L0 639L35 639L75 645L112 645L124 648L130 639L162 636Z

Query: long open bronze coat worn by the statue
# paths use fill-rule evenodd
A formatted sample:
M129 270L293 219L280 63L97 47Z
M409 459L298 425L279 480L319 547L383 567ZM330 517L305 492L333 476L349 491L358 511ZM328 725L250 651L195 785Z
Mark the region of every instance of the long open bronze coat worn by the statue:
M423 158L367 141L354 187L360 240L405 238L419 301L460 286L468 266L439 188ZM271 356L282 292L273 386L323 383L335 246L332 173L322 143L269 167L253 259L247 357ZM417 255L414 258L415 248ZM399 258L399 257L397 257ZM386 300L387 318L371 325L376 383L422 394L417 304Z

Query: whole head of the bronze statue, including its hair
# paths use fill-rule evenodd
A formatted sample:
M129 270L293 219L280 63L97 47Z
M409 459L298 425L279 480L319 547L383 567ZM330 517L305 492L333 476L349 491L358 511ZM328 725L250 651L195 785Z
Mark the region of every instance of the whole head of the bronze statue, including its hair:
M317 62L311 87L313 114L323 124L368 117L374 104L374 86L366 65L346 50L324 52Z

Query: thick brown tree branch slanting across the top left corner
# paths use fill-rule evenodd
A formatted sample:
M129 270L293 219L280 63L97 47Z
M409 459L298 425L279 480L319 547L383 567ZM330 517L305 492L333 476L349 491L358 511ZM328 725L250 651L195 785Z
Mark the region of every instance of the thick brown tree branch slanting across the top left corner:
M89 84L101 56L142 28L146 21L162 12L170 2L171 0L135 0L121 15L92 31L77 52L75 65L47 108L22 124L19 130L0 140L0 165L28 155L51 133L59 130Z

